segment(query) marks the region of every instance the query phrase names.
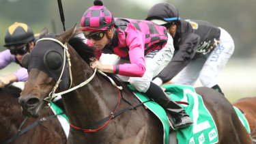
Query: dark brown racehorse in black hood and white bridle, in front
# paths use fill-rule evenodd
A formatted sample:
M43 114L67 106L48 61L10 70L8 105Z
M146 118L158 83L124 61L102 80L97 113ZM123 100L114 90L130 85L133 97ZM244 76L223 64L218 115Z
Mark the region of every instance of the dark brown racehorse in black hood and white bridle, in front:
M96 50L79 38L81 31L73 27L60 35L46 34L46 29L41 33L45 37L35 44L26 59L23 58L23 65L29 70L28 81L19 98L24 115L37 117L38 111L58 95L56 90L61 94L70 122L68 143L163 143L160 121L144 106L113 119L114 113L137 105L139 100L125 83L116 82L123 87L120 90L90 68L89 62ZM67 49L70 58L65 57ZM71 65L67 62L69 59ZM61 78L66 82L60 82ZM251 143L233 106L221 93L207 87L196 88L196 91L214 118L219 143Z

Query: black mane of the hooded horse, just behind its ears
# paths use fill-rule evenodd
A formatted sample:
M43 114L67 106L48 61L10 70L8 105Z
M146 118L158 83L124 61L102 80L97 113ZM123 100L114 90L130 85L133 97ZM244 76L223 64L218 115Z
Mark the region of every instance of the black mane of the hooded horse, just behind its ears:
M96 57L96 48L92 46L88 46L83 42L83 39L79 35L83 35L83 33L79 30L76 30L72 38L68 41L76 53L80 55L80 57L87 63L91 62L92 57Z

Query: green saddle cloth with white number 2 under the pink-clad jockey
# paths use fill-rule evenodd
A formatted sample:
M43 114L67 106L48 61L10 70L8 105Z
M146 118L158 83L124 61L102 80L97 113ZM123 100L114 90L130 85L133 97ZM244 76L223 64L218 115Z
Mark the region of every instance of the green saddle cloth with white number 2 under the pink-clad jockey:
M131 85L130 89L134 90ZM187 128L177 130L177 140L179 143L218 143L218 131L212 115L205 108L201 96L195 93L195 89L188 85L163 85L165 92L174 101L188 102L189 105L180 104L186 113L193 119L194 124ZM145 94L134 92L141 102L150 100ZM169 143L169 123L166 112L156 102L145 102L144 104L152 113L154 113L161 121L164 129L164 143Z

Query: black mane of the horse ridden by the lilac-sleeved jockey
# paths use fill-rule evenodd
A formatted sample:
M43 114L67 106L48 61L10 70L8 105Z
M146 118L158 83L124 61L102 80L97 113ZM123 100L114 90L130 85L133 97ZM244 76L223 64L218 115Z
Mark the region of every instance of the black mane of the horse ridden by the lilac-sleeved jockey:
M13 96L14 98L18 98L20 96L21 89L15 87L14 85L8 85L0 89L1 94L5 94L8 96Z

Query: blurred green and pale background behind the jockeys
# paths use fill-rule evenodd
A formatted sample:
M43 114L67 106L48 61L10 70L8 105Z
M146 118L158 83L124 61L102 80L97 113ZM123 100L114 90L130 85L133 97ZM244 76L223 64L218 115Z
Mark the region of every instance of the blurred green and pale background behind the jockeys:
M62 0L66 29L77 24L94 0ZM235 42L235 51L227 66L218 76L225 96L231 101L256 96L256 1L253 0L103 0L113 16L145 19L150 8L161 2L172 3L182 19L206 20L227 30ZM27 23L34 33L47 27L52 33L62 33L57 0L0 0L0 51L5 50L5 31L14 22ZM15 72L18 65L12 63L0 76ZM16 85L23 87L23 83ZM197 81L195 87L201 86Z

